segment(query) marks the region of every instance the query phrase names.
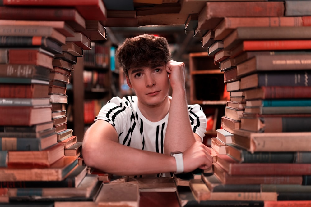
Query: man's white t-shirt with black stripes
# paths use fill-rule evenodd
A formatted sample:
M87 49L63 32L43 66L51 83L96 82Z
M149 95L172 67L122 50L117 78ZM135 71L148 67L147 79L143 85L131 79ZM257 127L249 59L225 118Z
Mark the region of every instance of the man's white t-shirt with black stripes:
M171 98L171 97L169 97ZM203 140L206 115L198 104L188 105L189 121L194 133ZM164 137L169 114L158 122L146 119L138 109L137 96L113 97L95 118L112 124L119 143L136 149L164 153ZM159 176L159 175L158 175Z

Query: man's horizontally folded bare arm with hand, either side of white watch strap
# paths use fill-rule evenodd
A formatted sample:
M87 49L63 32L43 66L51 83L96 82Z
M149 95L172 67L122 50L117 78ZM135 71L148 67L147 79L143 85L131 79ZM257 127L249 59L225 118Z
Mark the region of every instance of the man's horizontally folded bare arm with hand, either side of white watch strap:
M206 146L193 145L184 153L185 172L198 166L210 166L205 153ZM143 151L118 143L114 127L106 121L97 120L86 131L82 154L86 165L116 175L141 175L175 172L175 159L170 155ZM206 167L205 167L206 166Z

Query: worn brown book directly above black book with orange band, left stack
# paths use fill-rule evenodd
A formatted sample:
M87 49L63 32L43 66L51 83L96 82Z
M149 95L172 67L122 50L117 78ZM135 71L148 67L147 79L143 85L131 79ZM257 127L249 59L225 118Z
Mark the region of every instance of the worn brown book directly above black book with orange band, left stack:
M18 29L16 29L18 28ZM40 25L1 25L1 36L44 36L54 39L59 44L65 44L66 36L51 26Z

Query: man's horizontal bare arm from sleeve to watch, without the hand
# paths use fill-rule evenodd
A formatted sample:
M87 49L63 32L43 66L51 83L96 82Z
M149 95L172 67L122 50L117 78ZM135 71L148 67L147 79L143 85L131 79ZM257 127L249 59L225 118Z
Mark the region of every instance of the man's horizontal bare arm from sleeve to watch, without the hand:
M103 139L96 126L84 137L82 155L86 164L116 175L142 175L175 172L176 163L170 155L143 151Z

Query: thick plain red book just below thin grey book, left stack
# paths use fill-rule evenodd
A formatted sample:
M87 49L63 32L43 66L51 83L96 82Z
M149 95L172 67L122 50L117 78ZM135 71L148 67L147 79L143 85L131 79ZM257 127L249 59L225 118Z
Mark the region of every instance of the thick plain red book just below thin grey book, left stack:
M51 106L0 106L0 125L31 126L52 120Z

